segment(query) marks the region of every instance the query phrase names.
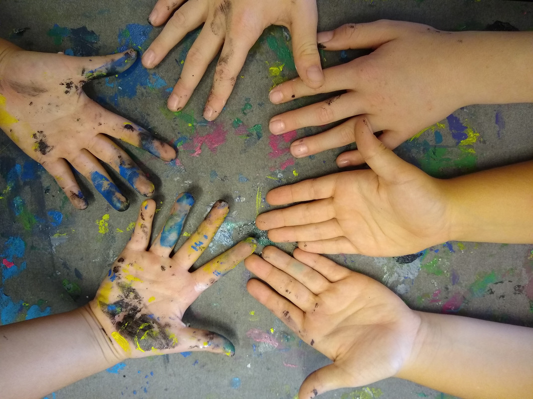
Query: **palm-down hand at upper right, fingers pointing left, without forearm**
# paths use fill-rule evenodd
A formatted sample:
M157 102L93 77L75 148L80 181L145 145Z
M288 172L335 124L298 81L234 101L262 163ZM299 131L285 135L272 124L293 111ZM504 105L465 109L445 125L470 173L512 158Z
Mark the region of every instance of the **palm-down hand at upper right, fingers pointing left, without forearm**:
M317 93L345 93L273 117L270 131L278 135L364 115L374 131L383 130L379 139L387 147L397 147L459 107L472 104L463 94L470 90L468 84L473 79L461 79L464 60L469 58L464 52L470 47L466 47L466 38L463 45L456 35L422 24L385 20L346 24L334 31L320 32L318 41L327 50L374 51L326 69L325 83L318 89L306 87L300 79L273 88L269 97L275 104ZM433 62L435 54L439 62ZM304 157L351 144L353 126L349 119L321 134L296 140L290 152ZM362 162L357 150L337 157L339 167Z

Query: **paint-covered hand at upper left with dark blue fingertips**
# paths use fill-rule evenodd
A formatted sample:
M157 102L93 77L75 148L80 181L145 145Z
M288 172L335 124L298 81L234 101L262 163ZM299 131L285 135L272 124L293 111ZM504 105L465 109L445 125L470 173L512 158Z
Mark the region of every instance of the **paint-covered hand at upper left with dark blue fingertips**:
M83 92L86 82L128 69L136 60L135 51L72 57L23 51L1 39L0 50L0 128L43 165L75 207L85 209L87 200L69 163L116 210L127 209L129 202L99 160L120 173L140 194L150 196L154 192L144 172L108 136L165 161L175 158L175 149L107 111Z

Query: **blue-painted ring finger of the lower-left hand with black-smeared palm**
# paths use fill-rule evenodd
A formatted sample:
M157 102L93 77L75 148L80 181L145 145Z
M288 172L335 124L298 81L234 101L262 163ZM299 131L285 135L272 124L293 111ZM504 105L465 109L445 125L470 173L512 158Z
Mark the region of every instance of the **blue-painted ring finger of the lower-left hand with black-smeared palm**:
M177 196L165 226L150 247L150 252L165 257L171 254L177 240L180 239L183 223L194 203L195 199L189 193L181 193Z

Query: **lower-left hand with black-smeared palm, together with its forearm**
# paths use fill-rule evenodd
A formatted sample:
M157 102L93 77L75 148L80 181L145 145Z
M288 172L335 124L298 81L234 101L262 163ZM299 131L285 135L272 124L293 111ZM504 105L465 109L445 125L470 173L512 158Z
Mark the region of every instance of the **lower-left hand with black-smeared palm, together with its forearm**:
M144 201L130 241L87 305L0 326L2 398L38 399L127 358L185 351L235 353L227 338L187 327L181 319L189 305L254 252L257 243L246 238L189 272L229 210L228 203L217 201L171 256L193 203L190 194L178 196L150 245L156 204ZM28 375L33 384L27 384Z

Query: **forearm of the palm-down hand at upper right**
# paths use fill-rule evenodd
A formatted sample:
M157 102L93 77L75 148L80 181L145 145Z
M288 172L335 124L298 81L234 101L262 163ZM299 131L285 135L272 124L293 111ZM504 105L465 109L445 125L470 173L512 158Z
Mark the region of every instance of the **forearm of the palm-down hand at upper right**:
M454 32L450 39L450 59L462 60L451 79L463 105L533 102L533 32Z

